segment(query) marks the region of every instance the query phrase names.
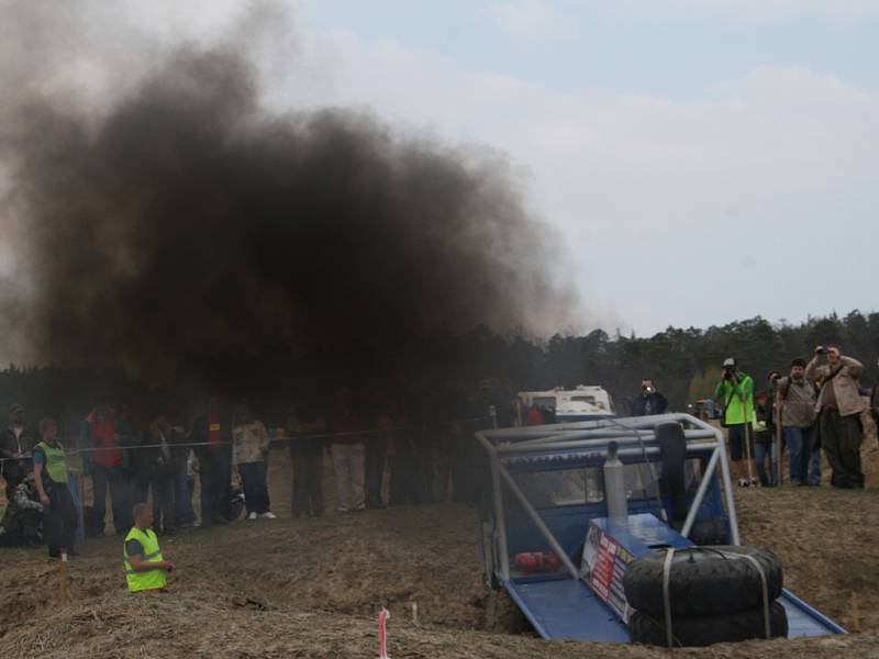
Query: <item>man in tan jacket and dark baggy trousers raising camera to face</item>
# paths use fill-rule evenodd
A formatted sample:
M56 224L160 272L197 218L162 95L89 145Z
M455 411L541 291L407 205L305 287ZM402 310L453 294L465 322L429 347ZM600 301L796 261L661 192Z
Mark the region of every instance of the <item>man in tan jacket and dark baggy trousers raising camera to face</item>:
M826 364L819 365L824 361L825 354ZM822 381L815 407L821 445L833 470L831 484L834 488L864 488L860 413L867 404L858 390L863 370L857 359L841 355L838 346L827 346L826 350L817 346L805 367L806 378Z

